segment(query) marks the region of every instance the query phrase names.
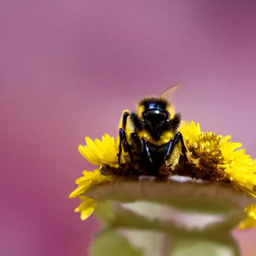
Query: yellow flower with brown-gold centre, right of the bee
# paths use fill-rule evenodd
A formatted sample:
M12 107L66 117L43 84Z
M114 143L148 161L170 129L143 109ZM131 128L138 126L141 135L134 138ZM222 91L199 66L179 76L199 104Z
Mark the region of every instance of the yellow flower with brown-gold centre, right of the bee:
M256 162L245 154L241 143L229 142L230 135L201 132L199 123L182 122L180 132L186 140L190 155L198 158L198 168L212 167L219 178L228 178L238 187L256 197ZM217 180L218 180L217 178Z

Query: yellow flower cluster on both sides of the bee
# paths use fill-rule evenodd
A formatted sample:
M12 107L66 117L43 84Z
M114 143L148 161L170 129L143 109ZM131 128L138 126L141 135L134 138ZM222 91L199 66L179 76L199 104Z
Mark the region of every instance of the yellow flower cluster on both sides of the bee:
M230 135L217 135L211 131L202 132L199 123L193 121L189 123L182 121L179 130L185 139L190 157L195 159L199 169L205 165L211 166L219 172L219 176L256 197L256 161L245 154L245 149L237 150L241 147L241 143L229 142ZM79 145L79 152L99 168L94 171L83 171L83 176L76 179L77 188L69 195L70 198L77 196L82 200L75 209L76 212L80 212L81 219L89 217L97 203L82 194L91 186L114 179L113 175L101 174L100 167L104 164L113 168L119 167L116 157L118 141L113 137L105 134L101 141L99 139L92 141L89 137L85 137L85 142L85 146ZM256 226L256 206L252 204L245 211L247 217L240 223L239 228Z

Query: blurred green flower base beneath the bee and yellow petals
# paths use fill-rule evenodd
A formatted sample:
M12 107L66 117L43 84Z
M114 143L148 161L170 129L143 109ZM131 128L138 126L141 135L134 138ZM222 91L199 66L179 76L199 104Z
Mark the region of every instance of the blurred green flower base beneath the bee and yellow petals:
M254 198L212 182L117 181L86 192L104 229L90 256L239 256L231 235Z

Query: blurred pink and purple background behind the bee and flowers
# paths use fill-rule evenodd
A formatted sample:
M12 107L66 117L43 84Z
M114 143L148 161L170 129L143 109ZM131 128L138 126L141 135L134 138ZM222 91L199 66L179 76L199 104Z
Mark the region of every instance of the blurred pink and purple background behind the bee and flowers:
M97 228L68 199L84 136L182 83L186 120L256 157L255 0L0 1L0 255L86 255ZM256 231L235 231L243 255Z

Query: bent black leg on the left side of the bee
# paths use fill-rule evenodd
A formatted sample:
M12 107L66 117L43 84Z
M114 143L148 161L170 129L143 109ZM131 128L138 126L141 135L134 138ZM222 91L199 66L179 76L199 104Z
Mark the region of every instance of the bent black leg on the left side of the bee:
M126 133L125 133L126 122L127 122L127 118L129 115L130 115L130 113L128 111L123 112L122 119L121 119L121 128L119 128L120 142L119 142L119 152L117 154L119 164L120 164L122 148L123 148L124 152L129 153L131 162L134 162L132 150L131 150L130 144L127 141L127 137L126 137Z

